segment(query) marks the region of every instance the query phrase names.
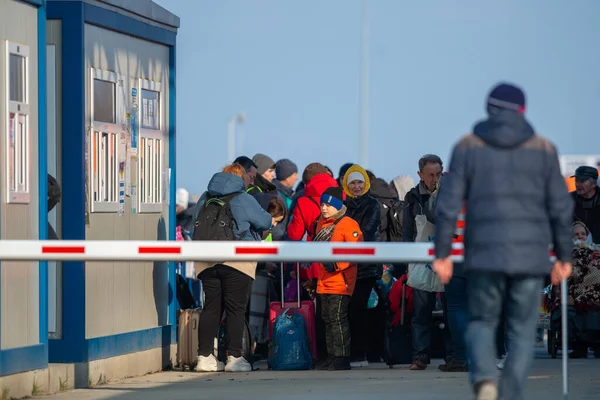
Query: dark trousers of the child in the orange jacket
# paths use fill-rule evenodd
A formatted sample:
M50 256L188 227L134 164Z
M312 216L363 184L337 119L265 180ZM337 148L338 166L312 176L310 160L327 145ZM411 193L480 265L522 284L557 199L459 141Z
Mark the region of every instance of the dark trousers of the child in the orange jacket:
M351 337L348 321L350 296L322 294L321 315L325 322L325 341L330 357L350 357Z

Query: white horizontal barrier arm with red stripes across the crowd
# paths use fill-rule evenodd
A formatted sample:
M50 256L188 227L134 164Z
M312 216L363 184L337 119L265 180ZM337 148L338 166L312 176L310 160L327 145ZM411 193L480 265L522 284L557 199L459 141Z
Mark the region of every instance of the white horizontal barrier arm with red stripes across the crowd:
M463 246L455 243L454 261ZM551 258L553 257L550 254ZM0 240L1 261L430 262L430 243Z

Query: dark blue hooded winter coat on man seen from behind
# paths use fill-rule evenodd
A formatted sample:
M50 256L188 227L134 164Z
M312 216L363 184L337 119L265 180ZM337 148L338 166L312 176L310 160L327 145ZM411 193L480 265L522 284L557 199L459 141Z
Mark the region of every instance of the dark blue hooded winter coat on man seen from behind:
M523 115L493 114L455 146L437 199L438 258L450 254L463 201L466 270L544 276L551 243L559 260L571 260L573 200L556 148Z

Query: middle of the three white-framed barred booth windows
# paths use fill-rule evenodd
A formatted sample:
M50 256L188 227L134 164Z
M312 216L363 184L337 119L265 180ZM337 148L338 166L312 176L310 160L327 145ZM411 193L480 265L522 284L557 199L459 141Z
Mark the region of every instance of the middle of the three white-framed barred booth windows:
M118 110L122 80L114 72L92 69L90 138L91 212L119 211ZM121 94L121 95L119 95Z

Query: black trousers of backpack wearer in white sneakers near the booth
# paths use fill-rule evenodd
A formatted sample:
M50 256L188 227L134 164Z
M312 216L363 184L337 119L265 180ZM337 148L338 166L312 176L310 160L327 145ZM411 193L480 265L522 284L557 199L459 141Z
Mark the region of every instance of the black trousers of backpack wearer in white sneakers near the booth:
M200 313L198 355L206 357L214 354L215 336L225 311L227 353L233 357L241 357L252 278L222 264L205 269L199 278L202 280L205 299L204 308Z

